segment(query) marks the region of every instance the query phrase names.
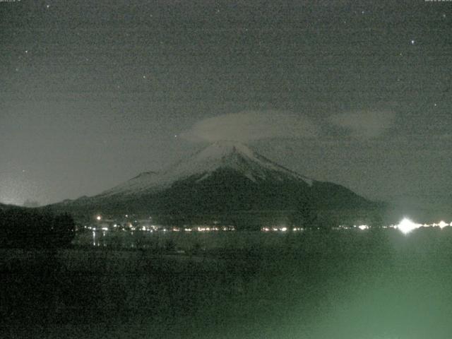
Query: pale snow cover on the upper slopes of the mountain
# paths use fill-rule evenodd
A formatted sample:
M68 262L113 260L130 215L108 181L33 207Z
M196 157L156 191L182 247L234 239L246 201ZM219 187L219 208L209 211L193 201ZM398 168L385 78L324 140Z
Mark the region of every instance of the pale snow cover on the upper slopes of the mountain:
M268 160L246 145L232 141L218 141L195 153L189 159L177 162L165 171L141 173L128 182L103 192L101 196L158 191L192 176L198 176L196 181L200 182L210 177L217 169L233 169L253 182L290 179L312 184L311 179Z

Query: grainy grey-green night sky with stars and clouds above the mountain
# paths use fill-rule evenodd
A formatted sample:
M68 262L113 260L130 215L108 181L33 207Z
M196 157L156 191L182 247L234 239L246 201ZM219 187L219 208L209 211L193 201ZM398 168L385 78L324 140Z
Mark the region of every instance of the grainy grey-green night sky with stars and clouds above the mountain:
M93 195L237 140L452 206L452 2L0 2L0 201Z

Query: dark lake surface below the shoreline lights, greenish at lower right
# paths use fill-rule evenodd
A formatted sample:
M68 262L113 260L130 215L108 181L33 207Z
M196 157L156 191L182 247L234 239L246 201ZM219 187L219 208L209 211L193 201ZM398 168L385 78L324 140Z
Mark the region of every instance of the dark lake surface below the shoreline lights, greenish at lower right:
M451 338L449 228L83 234L45 274L4 251L2 338Z

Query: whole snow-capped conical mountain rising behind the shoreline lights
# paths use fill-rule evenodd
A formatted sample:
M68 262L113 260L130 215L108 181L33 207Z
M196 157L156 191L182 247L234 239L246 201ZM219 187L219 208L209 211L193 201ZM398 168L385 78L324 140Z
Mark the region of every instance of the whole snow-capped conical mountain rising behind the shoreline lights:
M353 211L356 217L362 214L357 211L377 205L344 186L304 177L246 145L223 141L165 171L143 172L96 196L52 208L75 215L153 215L172 224L220 220L262 225L306 224L319 215L344 215L344 211Z

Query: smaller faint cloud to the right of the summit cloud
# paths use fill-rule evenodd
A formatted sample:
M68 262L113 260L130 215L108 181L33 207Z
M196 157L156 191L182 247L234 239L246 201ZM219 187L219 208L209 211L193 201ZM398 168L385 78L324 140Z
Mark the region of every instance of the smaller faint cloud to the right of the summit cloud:
M329 122L343 127L359 138L376 138L394 126L396 114L393 112L350 112L335 114Z

